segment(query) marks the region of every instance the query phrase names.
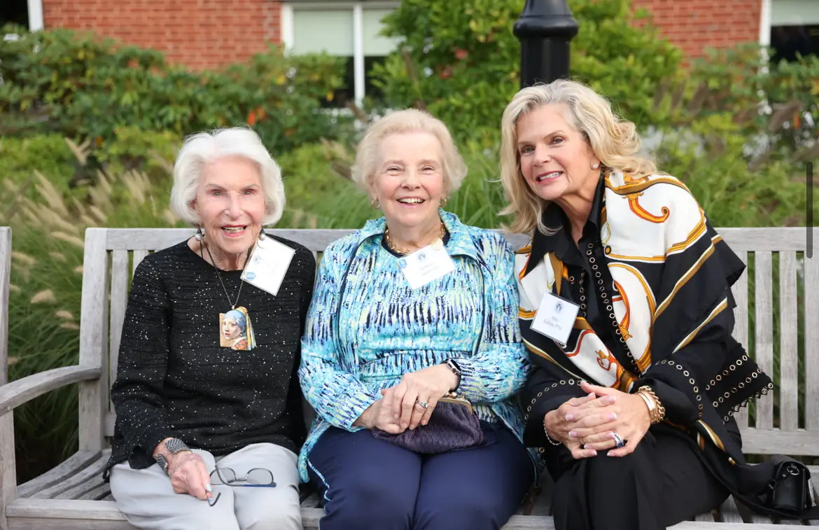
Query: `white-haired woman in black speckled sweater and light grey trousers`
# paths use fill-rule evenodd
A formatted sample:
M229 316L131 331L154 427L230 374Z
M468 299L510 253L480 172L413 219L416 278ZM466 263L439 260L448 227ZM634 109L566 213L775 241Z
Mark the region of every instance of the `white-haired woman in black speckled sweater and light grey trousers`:
M133 274L104 478L137 528L301 529L296 370L315 260L262 228L282 216L281 172L250 129L194 134L171 206L197 233Z

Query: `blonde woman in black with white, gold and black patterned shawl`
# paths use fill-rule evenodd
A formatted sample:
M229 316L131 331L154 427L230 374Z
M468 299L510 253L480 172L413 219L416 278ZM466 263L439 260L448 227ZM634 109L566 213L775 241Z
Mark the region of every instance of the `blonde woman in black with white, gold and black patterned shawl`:
M501 177L558 530L658 530L737 491L732 414L771 380L731 337L744 265L685 184L638 154L635 125L568 80L521 90Z

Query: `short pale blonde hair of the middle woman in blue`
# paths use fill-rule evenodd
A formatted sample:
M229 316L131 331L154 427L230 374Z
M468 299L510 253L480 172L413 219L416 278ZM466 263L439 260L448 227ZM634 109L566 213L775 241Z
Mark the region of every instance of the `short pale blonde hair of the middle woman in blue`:
M369 193L381 160L381 141L390 134L415 132L432 134L441 143L445 192L454 193L466 176L467 167L464 159L458 152L458 147L455 147L452 135L444 122L419 109L391 111L370 125L355 153L355 162L351 168L353 182L364 192Z

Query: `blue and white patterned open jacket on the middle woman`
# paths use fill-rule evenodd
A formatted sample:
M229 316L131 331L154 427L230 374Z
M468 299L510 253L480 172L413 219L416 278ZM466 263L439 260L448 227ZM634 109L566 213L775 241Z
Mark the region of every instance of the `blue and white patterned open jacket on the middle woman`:
M450 233L446 250L455 266L461 262L463 267L464 260L472 260L472 268L482 274L482 279L475 281L483 285L483 326L475 337L473 352L456 357L463 371L459 392L473 404L489 405L523 441L523 414L514 395L526 382L530 365L518 324L514 252L500 234L462 224L448 212L440 213ZM340 340L337 330L352 325L362 315L367 297L345 298L345 290L354 283L373 284L371 271L384 229L383 218L368 221L364 228L333 242L319 265L301 339L299 379L307 401L316 411L299 455L303 482L309 480L307 456L321 434L330 426L360 430L353 422L381 397L378 388L362 382L358 354ZM456 329L456 333L474 333L473 328L465 326Z

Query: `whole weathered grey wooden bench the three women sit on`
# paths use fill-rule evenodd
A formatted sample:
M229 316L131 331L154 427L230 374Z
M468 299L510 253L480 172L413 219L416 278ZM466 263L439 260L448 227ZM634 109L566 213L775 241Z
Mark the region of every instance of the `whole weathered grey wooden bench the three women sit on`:
M317 256L328 243L349 232L274 231L301 242ZM746 345L751 343L749 339L753 339L749 351L762 369L775 377L778 389L755 405L753 425L749 425L747 410L738 414L745 451L758 455L819 456L819 359L813 350L819 344L819 259L803 258L805 229L721 229L720 232L746 263L753 264L750 297L748 274L743 274L735 286L739 306L735 336ZM107 440L114 433L115 413L109 399L109 387L116 377L129 283L133 269L149 251L169 247L192 233L190 229L87 230L79 364L34 374L0 387L0 529L133 528L116 510L109 487L102 482L102 469L110 454ZM817 235L819 230L814 230L813 240L819 240ZM517 248L527 238L512 235L509 240ZM8 251L4 250L7 247L3 244L0 239L0 256L7 256ZM3 270L0 265L0 280ZM775 270L779 271L776 295L773 288ZM7 290L0 287L0 292ZM801 313L798 300L803 305ZM749 301L752 302L753 315L749 315ZM779 315L779 319L774 315ZM752 322L755 325L752 326ZM0 324L5 325L2 315ZM777 329L778 333L775 333ZM803 333L803 350L808 352L802 359L798 331ZM775 337L778 337L781 351L778 366L774 366ZM800 364L803 365L801 370ZM57 468L18 486L12 410L45 392L75 383L79 384L79 451ZM803 410L798 408L800 392L804 395ZM819 469L814 467L812 470L819 476ZM549 489L547 478L541 494L522 505L505 529L554 528L550 518ZM316 496L309 496L302 502L305 528L318 528L324 512L317 506ZM755 523L758 526L753 528L759 529L772 528L775 523L800 524L799 521L771 521L750 514L729 498L720 510L699 515L674 528L730 530L749 528L739 526L748 523ZM813 525L819 526L817 523L813 522Z

